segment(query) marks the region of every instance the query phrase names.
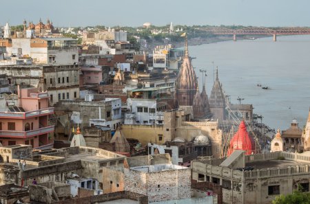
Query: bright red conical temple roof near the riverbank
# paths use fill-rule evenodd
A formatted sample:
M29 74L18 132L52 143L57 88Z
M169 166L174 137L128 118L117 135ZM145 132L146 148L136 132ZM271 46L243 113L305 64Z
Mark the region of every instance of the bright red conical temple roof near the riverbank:
M245 155L251 155L252 152L255 152L254 140L249 136L249 133L247 133L247 126L245 126L243 120L240 123L237 133L231 138L227 157L231 155L234 150L245 150Z

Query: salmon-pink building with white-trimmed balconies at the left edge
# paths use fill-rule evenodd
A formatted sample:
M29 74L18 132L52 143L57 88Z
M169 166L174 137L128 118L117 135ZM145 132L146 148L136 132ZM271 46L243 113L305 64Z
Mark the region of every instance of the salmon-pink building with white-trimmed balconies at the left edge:
M48 106L48 100L47 92L39 92L34 87L18 88L18 99L7 101L5 107L1 107L1 144L52 148L54 141L50 135L54 133L54 126L49 126L48 118L54 108Z

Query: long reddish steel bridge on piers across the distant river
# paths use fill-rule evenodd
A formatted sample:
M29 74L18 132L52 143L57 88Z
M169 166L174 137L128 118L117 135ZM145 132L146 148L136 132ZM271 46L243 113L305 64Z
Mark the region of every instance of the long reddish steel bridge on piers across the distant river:
M229 29L225 27L207 27L205 32L214 35L232 35L234 41L237 35L271 35L273 41L277 41L277 35L310 35L310 28L307 27L282 27L272 30L267 27L245 27L242 29Z

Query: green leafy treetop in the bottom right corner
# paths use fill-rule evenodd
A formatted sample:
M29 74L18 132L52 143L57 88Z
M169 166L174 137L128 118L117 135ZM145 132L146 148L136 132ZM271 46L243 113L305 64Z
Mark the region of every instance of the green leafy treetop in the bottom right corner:
M310 193L302 192L302 187L298 185L298 190L293 194L276 196L273 204L310 204Z

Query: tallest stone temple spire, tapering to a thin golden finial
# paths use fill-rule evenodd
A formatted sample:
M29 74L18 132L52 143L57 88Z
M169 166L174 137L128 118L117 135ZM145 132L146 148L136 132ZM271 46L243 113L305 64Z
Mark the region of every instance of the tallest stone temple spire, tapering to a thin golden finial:
M197 86L196 73L188 55L187 35L185 35L183 63L176 78L176 106L192 106Z

